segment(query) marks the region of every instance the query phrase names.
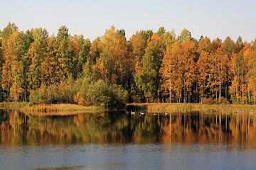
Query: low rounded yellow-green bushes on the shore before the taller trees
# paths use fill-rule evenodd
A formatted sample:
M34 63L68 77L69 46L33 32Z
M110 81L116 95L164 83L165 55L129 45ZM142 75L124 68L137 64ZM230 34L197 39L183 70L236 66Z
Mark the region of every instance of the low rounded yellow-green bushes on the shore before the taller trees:
M51 86L42 85L31 91L30 103L78 103L82 106L105 106L123 108L127 103L128 92L117 84L107 84L101 79L90 77L74 81L72 78Z

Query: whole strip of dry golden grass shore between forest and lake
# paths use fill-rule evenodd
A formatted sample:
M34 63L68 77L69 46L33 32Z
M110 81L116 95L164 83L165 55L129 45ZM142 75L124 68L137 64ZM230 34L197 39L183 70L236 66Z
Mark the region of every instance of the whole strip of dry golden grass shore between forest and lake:
M60 113L75 112L75 113L98 113L102 111L147 111L149 113L164 113L164 112L180 112L187 111L202 111L206 113L225 113L225 114L256 114L256 105L209 105L202 103L128 103L122 109L107 109L102 106L82 106L70 103L33 105L28 102L3 102L0 103L1 109L19 110L29 113Z

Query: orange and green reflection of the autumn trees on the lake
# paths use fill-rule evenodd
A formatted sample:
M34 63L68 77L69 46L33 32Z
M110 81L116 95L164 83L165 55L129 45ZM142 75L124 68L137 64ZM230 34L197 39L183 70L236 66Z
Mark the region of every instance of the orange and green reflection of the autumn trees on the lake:
M228 143L255 147L255 115L128 112L25 115L0 111L1 145Z

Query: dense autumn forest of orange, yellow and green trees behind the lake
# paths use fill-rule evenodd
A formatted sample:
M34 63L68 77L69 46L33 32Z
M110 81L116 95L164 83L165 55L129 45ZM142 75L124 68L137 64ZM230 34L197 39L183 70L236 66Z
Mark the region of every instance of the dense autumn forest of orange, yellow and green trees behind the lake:
M196 40L164 27L138 30L129 40L112 26L95 40L0 30L0 101L78 103L256 103L256 41L207 36Z

